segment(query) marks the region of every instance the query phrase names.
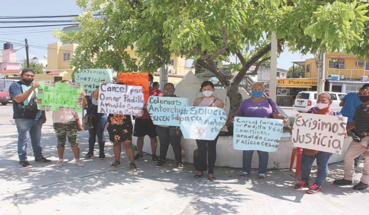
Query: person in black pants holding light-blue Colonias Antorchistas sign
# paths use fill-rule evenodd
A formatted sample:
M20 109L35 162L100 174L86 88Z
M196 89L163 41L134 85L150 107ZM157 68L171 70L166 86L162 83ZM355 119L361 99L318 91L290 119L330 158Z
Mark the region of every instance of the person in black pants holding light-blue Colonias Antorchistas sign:
M172 83L166 83L164 85L164 96L165 97L177 97L174 94L174 91L175 91L175 88ZM177 169L183 169L182 155L181 155L182 131L180 130L179 126L158 125L156 126L156 133L158 134L159 141L160 141L160 156L159 156L159 162L156 164L156 167L160 168L165 164L166 153L168 152L169 143L170 143L173 147Z

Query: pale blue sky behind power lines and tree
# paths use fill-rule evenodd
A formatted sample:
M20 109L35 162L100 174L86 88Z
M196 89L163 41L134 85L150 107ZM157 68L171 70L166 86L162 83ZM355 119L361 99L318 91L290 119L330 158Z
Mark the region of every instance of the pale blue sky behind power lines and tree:
M77 15L81 13L81 9L76 6L75 0L1 0L0 17L5 16L51 16L51 15ZM46 18L44 20L68 20L64 18ZM42 19L21 19L23 20L42 20ZM0 21L14 21L4 20ZM20 20L17 20L20 21ZM58 23L49 23L58 24ZM25 26L25 25L47 25L45 23L32 24L9 24L0 23L0 27ZM54 30L62 29L65 26L54 27L32 27L32 28L0 28L0 49L3 49L5 42L11 42L14 49L24 47L27 38L30 50L30 58L44 58L47 55L47 46L50 43L59 40L52 36ZM304 61L313 58L313 55L301 56L299 53L292 53L286 49L277 59L277 67L288 69L294 61ZM25 59L25 48L17 51L17 61Z

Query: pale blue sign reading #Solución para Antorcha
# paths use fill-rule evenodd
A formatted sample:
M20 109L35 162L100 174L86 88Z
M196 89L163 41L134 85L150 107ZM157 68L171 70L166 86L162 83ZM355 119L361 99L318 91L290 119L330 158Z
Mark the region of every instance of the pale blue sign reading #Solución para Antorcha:
M214 140L227 120L227 114L217 107L184 107L179 126L186 139Z

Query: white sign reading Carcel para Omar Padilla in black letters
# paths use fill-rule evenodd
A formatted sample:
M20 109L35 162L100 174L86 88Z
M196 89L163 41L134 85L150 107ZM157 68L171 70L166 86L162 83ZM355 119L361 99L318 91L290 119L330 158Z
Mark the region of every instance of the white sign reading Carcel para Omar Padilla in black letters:
M142 87L100 84L97 112L141 116L144 107Z

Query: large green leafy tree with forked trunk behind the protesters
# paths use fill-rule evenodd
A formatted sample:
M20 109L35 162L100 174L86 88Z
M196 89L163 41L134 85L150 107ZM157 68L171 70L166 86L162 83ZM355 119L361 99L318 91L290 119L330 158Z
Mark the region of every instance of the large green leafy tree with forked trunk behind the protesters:
M56 31L80 41L76 69L113 67L156 71L170 56L186 55L218 77L230 98L230 116L242 101L239 83L249 67L270 57L270 32L279 47L303 54L318 49L369 57L367 1L356 0L77 0L82 31ZM94 14L98 14L94 16ZM125 51L135 49L138 59ZM245 47L252 47L245 50ZM215 62L236 55L240 69L224 76Z

